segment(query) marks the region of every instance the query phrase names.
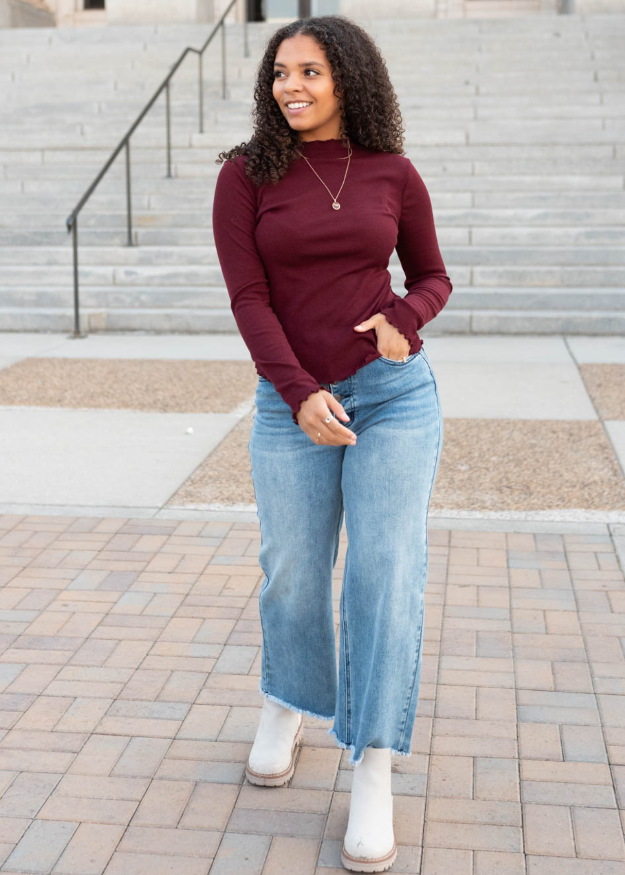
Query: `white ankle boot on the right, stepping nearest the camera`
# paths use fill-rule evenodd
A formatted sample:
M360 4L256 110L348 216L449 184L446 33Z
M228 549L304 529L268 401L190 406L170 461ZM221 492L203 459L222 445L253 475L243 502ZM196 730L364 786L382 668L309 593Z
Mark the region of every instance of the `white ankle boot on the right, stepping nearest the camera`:
M396 857L390 747L366 747L354 767L341 863L351 872L384 872Z

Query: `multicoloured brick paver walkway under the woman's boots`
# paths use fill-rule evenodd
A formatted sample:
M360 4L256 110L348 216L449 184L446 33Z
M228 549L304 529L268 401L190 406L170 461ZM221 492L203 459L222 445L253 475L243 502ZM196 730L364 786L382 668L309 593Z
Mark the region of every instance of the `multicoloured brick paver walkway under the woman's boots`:
M259 543L257 523L0 517L0 871L345 872L352 767L330 724L305 718L287 787L244 780ZM625 584L609 536L432 530L430 544L391 872L623 875Z

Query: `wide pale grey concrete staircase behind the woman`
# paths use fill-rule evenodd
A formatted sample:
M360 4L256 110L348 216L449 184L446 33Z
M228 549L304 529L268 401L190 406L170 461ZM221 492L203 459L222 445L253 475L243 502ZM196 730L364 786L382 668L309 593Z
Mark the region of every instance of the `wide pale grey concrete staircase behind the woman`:
M362 20L390 69L454 290L425 332L625 333L625 16ZM172 87L172 179L158 101L79 220L88 331L235 332L213 246L221 149L251 132L275 25L228 26ZM210 25L0 32L0 331L73 326L65 220L185 45ZM392 287L404 294L394 254Z

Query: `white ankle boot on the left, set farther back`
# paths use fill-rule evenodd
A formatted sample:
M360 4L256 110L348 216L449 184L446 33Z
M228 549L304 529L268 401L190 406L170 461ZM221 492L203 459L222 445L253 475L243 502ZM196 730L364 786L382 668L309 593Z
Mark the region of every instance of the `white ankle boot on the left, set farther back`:
M291 780L295 753L302 742L304 718L263 697L263 713L249 752L245 776L252 784L280 787Z

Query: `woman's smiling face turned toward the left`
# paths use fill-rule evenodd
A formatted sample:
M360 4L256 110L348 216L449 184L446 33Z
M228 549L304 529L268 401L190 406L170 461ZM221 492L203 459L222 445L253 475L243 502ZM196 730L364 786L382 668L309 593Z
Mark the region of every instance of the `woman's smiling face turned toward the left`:
M312 37L298 33L278 45L273 65L273 96L301 140L341 137L341 109L326 52ZM289 109L290 103L308 104Z

